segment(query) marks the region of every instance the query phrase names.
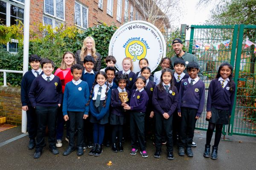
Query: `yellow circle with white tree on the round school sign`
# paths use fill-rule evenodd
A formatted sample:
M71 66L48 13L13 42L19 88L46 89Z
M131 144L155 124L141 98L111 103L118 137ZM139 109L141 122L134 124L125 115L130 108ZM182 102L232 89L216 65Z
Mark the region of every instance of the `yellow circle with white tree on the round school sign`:
M130 57L133 61L145 58L147 48L145 44L139 40L131 41L125 48L126 57Z

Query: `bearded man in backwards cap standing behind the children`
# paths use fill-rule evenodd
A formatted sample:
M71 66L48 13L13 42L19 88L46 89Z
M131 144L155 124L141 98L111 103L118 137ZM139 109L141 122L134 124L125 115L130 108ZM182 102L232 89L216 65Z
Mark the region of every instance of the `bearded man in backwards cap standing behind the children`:
M190 54L190 53L187 53L186 51L183 51L182 50L183 48L183 43L182 41L179 39L179 38L175 38L173 41L172 41L172 49L175 51L175 54L176 56L173 56L171 58L171 61L172 61L172 68L174 68L174 62L175 62L175 59L177 58L180 58L180 59L183 59L185 61L185 64L188 65L189 62L197 62L198 63L198 60L197 58L195 57L195 55L193 54ZM186 68L186 65L185 65L185 68ZM198 63L199 65L199 63ZM200 65L199 65L200 66ZM184 73L188 74L187 70L185 69L184 70ZM201 80L204 80L204 74L203 74L203 69L199 68L199 72L198 72L198 77L201 79Z

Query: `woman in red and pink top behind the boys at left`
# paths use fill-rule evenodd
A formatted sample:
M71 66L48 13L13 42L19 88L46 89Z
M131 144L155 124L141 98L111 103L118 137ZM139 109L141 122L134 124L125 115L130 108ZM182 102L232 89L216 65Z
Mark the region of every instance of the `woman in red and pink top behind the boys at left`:
M64 94L64 90L65 90L65 85L67 84L67 82L70 82L73 79L73 76L71 75L70 68L74 64L76 64L75 55L72 52L67 51L63 54L62 61L61 61L61 67L58 68L54 73L55 76L58 76L61 79L63 94ZM63 119L62 104L61 104L61 107L59 108L59 111L58 111L58 119L57 119L56 147L62 146L63 128L64 128L64 119ZM66 137L67 141L69 138L68 136L69 135L68 135L68 130L67 130L67 137Z

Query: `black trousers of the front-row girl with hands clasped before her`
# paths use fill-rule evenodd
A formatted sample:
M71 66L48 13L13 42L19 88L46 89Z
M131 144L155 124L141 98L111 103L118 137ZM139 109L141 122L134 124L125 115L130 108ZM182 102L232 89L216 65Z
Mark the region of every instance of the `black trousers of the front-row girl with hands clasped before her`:
M161 150L162 136L166 136L166 149L167 152L173 152L173 139L172 139L172 118L171 115L168 119L165 119L161 113L155 113L156 118L156 149Z

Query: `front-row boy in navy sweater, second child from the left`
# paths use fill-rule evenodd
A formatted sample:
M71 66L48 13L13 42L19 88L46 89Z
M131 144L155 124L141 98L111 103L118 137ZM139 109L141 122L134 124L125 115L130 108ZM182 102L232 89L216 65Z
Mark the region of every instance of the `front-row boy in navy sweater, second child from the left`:
M54 70L52 60L42 59L41 67L44 74L34 79L29 91L29 101L35 108L38 122L34 158L41 156L43 147L46 145L44 142L46 126L48 126L49 150L53 154L59 153L55 146L55 122L62 101L61 80L52 74Z

